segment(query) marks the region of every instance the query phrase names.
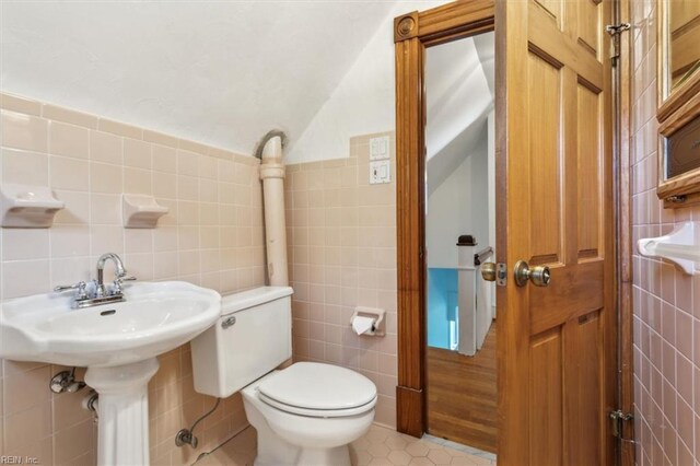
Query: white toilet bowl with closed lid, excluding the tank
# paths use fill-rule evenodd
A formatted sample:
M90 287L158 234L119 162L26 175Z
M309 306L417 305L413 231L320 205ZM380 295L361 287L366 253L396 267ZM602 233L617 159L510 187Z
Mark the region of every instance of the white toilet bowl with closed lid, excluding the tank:
M243 403L258 432L256 466L349 466L348 444L374 420L376 388L348 369L299 362L245 387Z

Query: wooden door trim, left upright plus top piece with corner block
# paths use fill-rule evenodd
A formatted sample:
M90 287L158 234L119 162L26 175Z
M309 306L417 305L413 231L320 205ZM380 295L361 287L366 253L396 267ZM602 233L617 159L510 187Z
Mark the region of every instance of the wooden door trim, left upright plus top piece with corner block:
M457 1L394 20L396 43L397 430L425 432L425 47L492 31L493 0Z

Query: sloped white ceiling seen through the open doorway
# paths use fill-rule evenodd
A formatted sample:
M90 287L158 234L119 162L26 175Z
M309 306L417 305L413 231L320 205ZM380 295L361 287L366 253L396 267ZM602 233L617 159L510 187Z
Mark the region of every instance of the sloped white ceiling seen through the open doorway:
M494 101L494 47L491 32L428 49L428 195L486 141Z

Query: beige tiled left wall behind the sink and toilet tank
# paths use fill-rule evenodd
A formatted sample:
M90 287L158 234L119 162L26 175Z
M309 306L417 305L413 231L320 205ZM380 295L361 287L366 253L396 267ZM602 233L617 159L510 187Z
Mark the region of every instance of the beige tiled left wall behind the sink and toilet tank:
M256 159L7 94L0 107L2 183L49 186L66 202L50 229L0 229L0 302L93 278L105 252L141 280L220 292L264 284ZM121 193L153 195L170 213L154 230L125 230ZM196 453L175 447L213 399L194 392L189 346L160 360L149 387L153 464L189 464L247 424L233 396L199 428ZM52 395L58 366L0 364L0 455L93 465L95 428L80 407L88 391Z

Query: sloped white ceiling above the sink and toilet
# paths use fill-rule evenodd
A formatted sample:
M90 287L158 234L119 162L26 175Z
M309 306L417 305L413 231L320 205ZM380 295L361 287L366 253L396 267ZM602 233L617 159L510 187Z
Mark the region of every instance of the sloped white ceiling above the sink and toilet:
M303 132L395 3L0 0L0 89L249 154Z

